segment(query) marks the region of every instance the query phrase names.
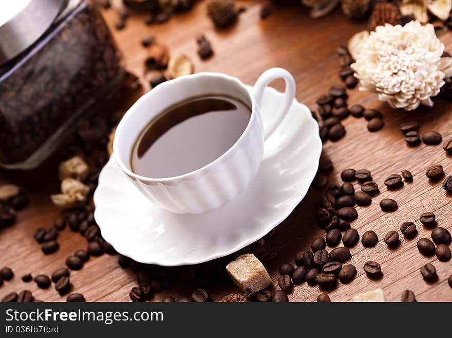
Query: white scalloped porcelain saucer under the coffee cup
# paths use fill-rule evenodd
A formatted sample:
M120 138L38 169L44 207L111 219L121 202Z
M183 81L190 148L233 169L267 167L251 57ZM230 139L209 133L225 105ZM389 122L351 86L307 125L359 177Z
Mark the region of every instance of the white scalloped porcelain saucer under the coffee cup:
M263 123L283 94L267 88ZM99 176L95 219L115 249L138 262L197 264L240 250L284 221L305 197L322 152L317 122L294 100L287 117L266 141L263 161L247 189L203 214L173 214L151 204L128 181L113 156Z

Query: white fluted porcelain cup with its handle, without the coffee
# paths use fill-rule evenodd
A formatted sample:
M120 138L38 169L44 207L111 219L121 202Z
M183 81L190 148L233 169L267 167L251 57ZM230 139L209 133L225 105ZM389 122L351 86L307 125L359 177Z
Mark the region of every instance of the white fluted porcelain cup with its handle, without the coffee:
M273 123L264 130L260 106L265 87L277 78L286 82L284 104L275 112ZM130 156L142 130L169 106L202 95L227 95L252 107L248 126L236 143L210 164L180 176L154 179L134 173ZM284 119L294 97L295 81L282 68L264 72L254 90L220 73L181 76L158 85L131 106L116 129L114 156L124 173L152 203L178 214L216 209L234 199L254 177L262 161L264 142Z

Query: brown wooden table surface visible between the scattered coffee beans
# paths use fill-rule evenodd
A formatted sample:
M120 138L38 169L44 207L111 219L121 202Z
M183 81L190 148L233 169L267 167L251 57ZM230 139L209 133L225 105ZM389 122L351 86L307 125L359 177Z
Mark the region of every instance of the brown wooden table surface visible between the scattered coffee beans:
M315 109L316 98L327 93L331 84L340 83L337 75L340 67L335 52L337 46L346 42L353 33L364 29L365 23L350 22L340 9L323 19L312 20L302 6L280 8L262 21L259 17L262 2L239 3L248 9L240 15L237 24L227 30L219 31L213 27L205 15L205 2L200 2L190 12L175 15L162 25L146 26L143 17L133 15L124 30L112 28L112 31L124 53L127 69L137 75L143 75L146 56L146 49L140 41L153 34L170 48L172 54L183 52L188 55L195 64L196 72L227 73L244 83L253 84L267 68L284 67L296 80L297 99ZM105 10L104 14L112 27L117 19L116 13L110 9ZM200 33L206 35L215 50L215 55L207 61L201 61L196 54L196 37ZM446 49L452 47L452 34L441 35L441 40ZM284 88L282 81L275 82L274 86L278 90ZM447 284L447 278L452 274L452 261L439 262L435 256L423 257L416 248L418 239L430 238L431 229L419 222L422 212L435 212L439 225L452 230L452 196L445 193L441 183L430 183L424 174L429 165L437 163L444 166L446 173L452 173L451 158L441 145L408 148L398 129L401 122L416 120L421 125L421 132L437 130L444 139L450 138L452 105L437 99L434 109L404 112L392 110L379 102L375 95L361 93L357 89L349 91L349 96L349 105L361 103L366 108L381 110L385 127L379 132L369 133L363 118L350 116L343 121L346 136L335 143L327 141L323 156L329 156L334 164L334 171L329 176L330 184L341 183L340 172L347 168L367 168L372 172L381 193L370 206L357 207L359 218L352 222L352 227L360 235L366 230L374 230L379 242L372 248L364 248L359 243L351 249L349 263L356 266L357 276L349 285L340 284L329 292L331 299L349 301L356 293L382 288L388 301L399 301L402 291L406 289L415 292L418 301L452 301L452 289ZM405 184L397 191L387 191L384 179L402 169L412 172L414 182ZM26 273L50 275L56 268L64 266L67 256L78 248L86 247L86 240L68 228L60 233L60 250L52 255L45 256L33 239L36 228L51 226L60 215L60 210L49 199L51 193L58 192L55 177L56 165L50 167L40 180L36 180L30 172L1 172L2 182L24 186L31 197L31 204L18 214L17 223L0 230L0 266L9 266L15 274L13 280L6 281L0 287L2 298L9 292L28 289L37 299L65 300L65 296L60 296L53 287L41 290L34 282L24 283L20 278ZM272 261L265 263L276 288L279 264L293 263L296 252L308 250L313 239L325 236L324 230L318 228L313 220L313 205L319 193L311 188L302 206L292 212L267 241L267 247L277 248L278 252ZM379 207L383 198L396 200L399 209L391 213L383 212ZM404 221L416 223L419 234L415 239L407 240L400 234L399 227ZM383 242L389 230L398 230L401 236L401 245L394 250ZM82 270L71 272L73 292L84 294L87 301L130 301L128 293L137 284L136 275L121 269L117 257L103 255L91 258ZM382 279L375 281L366 277L363 265L368 260L381 264ZM422 279L419 269L427 262L436 266L439 275L436 283L427 284ZM174 284L153 300L160 300L166 295L174 295L176 299L189 296L194 288L194 285L183 287ZM211 283L205 288L214 300L236 292L228 283ZM296 286L289 298L291 301L314 301L320 292L317 286L310 287L304 283Z

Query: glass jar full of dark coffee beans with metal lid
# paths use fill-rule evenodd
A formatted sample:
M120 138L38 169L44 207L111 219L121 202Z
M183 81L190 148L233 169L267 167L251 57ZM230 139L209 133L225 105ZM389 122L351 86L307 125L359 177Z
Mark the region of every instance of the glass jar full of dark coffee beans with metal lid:
M124 72L90 1L17 2L26 4L9 21L0 15L0 166L33 169L118 88Z

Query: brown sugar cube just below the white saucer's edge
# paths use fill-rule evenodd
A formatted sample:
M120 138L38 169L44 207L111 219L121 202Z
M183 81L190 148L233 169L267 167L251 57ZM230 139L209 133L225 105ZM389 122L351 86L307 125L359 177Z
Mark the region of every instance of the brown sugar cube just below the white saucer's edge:
M226 266L226 271L235 286L243 293L256 293L271 283L267 270L253 254L238 256Z

